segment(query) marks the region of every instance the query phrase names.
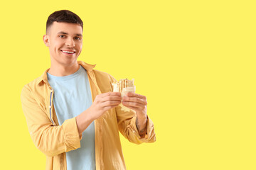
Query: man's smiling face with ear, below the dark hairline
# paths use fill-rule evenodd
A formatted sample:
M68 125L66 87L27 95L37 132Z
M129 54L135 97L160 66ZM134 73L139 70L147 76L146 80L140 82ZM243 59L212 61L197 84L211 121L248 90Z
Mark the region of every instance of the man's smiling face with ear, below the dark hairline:
M76 23L53 22L43 41L49 47L52 64L70 66L82 51L82 27Z

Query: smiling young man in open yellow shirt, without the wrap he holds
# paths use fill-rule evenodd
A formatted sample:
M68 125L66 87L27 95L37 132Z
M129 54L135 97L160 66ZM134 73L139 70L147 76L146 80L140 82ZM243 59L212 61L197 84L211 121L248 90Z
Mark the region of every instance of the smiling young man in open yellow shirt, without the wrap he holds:
M156 140L146 97L129 93L121 98L112 92L116 80L110 74L77 61L82 26L71 11L48 17L43 42L50 51L50 69L21 92L28 130L46 154L46 169L126 169L119 131L136 144Z

